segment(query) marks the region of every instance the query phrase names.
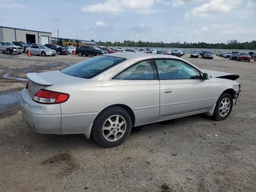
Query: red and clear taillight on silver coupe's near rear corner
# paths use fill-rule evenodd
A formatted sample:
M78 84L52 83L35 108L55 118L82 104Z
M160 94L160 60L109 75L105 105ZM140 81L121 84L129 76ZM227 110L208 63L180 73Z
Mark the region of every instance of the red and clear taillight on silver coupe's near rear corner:
M33 97L33 100L42 104L57 104L66 102L69 94L40 89Z

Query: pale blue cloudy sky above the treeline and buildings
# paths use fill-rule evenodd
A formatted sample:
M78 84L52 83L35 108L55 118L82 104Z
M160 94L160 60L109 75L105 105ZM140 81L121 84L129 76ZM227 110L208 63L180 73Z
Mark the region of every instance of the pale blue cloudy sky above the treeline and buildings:
M0 26L123 42L256 40L256 0L0 0Z

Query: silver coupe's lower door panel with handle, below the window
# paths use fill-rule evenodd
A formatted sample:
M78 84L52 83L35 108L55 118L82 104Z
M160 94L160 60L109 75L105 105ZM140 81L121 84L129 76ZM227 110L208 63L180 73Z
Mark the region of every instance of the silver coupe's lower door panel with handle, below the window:
M213 91L211 80L160 80L160 117L206 110Z

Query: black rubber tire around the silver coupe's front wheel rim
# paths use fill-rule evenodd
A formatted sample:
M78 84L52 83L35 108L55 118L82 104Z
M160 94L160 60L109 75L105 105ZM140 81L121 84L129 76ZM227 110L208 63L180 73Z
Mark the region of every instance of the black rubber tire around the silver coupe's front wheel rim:
M220 115L220 112L219 112L219 107L220 107L220 103L221 101L224 99L224 98L228 98L230 100L230 109L228 111L228 113L225 115L225 116L221 116ZM229 114L231 113L232 111L232 108L233 108L233 97L232 95L229 93L229 92L224 92L218 99L217 103L216 103L216 106L215 106L215 109L214 109L214 113L212 115L212 117L215 119L215 120L218 120L218 121L221 121L221 120L224 120L226 119Z

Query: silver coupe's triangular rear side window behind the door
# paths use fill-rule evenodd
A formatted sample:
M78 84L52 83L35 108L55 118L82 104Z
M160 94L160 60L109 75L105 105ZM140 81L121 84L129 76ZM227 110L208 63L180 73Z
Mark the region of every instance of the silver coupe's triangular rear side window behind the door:
M155 70L153 60L142 61L120 74L116 75L115 80L157 80L157 73Z

